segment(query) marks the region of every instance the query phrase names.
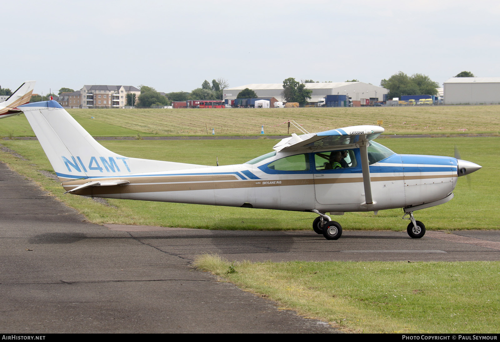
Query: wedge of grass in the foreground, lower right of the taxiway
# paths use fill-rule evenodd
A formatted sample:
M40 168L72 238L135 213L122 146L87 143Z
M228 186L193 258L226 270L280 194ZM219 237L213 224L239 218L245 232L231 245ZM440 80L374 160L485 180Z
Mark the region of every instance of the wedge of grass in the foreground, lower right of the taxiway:
M230 263L202 255L195 265L346 332L500 332L498 261Z

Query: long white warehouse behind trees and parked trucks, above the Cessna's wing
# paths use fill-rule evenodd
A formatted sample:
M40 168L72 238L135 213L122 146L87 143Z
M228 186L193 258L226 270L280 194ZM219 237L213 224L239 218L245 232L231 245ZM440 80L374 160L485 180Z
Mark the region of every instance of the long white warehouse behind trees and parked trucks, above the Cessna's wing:
M238 92L244 88L249 88L258 97L275 97L279 101L284 101L281 96L283 83L251 83L224 89L223 99L236 98ZM372 101L383 101L387 89L373 84L363 82L326 82L326 83L305 83L306 89L311 89L312 94L309 102L317 102L318 99L326 95L347 95L353 101L361 99L371 99Z

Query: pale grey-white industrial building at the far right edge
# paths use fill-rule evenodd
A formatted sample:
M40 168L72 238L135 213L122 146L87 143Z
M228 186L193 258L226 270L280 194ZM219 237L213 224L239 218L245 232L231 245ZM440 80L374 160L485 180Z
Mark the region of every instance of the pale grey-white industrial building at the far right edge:
M443 92L444 104L500 103L500 77L451 77Z

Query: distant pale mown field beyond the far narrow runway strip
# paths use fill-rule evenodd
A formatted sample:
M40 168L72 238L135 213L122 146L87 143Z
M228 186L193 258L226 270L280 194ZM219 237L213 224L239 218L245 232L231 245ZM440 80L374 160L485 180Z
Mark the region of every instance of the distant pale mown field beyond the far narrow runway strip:
M491 133L500 131L500 105L227 108L227 109L68 109L92 135L286 135L287 120L309 132L382 120L385 134ZM91 119L90 117L94 118ZM121 127L121 128L119 128ZM300 133L291 126L290 133ZM0 135L34 135L24 115L2 120Z

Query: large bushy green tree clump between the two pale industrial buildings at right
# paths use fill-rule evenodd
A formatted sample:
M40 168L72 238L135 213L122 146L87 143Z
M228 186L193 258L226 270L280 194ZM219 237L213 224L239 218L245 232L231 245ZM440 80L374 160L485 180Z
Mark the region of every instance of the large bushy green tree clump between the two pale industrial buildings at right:
M436 95L439 83L432 81L428 76L414 73L408 77L402 71L394 73L389 79L382 79L380 86L389 90L389 98L401 95Z

